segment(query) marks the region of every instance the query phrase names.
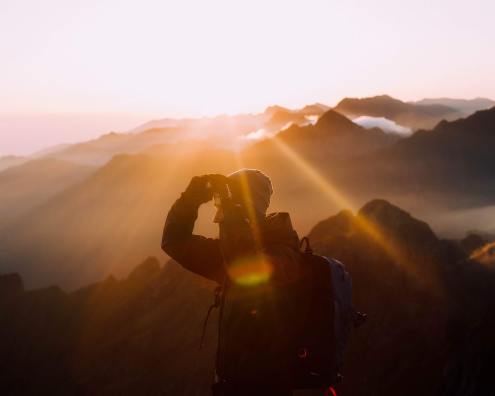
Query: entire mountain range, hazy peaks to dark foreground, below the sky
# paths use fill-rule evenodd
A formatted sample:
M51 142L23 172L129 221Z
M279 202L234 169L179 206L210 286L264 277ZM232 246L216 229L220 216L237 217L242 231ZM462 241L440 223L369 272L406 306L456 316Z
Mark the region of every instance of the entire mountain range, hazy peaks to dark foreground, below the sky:
M209 395L217 310L198 347L216 285L161 232L193 176L247 167L270 176L270 210L346 265L369 315L339 395L493 395L494 105L273 106L0 158L0 393ZM213 213L195 233L218 234Z

